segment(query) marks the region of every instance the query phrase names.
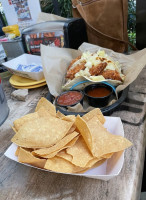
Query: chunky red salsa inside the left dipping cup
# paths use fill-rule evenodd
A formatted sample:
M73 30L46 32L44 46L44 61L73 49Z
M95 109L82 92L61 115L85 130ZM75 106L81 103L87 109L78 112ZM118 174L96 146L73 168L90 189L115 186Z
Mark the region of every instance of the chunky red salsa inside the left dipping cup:
M83 95L78 91L69 91L58 97L57 103L63 106L74 105L82 99Z

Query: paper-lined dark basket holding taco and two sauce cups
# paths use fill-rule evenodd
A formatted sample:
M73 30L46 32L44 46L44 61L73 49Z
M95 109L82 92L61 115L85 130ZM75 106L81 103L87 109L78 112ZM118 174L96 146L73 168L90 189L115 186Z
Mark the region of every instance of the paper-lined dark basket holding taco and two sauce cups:
M145 66L144 50L124 55L87 43L79 50L42 45L41 55L47 98L64 114L84 115L95 107L110 114Z

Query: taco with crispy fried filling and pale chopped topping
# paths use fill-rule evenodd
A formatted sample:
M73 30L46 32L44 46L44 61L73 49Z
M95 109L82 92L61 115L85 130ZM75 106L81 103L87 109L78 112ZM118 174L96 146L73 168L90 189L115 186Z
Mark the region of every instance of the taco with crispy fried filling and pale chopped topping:
M86 85L101 81L117 86L123 83L124 78L120 63L114 61L105 51L99 50L96 53L87 51L71 61L63 89L68 90L75 84L76 89L83 89ZM80 82L83 82L83 85L77 84Z

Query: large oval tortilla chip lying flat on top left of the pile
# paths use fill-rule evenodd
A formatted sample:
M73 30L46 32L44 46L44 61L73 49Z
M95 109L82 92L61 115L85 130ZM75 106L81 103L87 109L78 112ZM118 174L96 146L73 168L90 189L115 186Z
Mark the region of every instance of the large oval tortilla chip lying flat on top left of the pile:
M68 133L72 124L51 115L41 117L23 124L11 141L26 148L50 147Z

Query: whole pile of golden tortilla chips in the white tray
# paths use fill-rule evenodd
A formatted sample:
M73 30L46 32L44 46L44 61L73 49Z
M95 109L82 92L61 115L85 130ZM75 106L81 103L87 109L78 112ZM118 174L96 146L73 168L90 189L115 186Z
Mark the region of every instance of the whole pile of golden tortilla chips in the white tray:
M55 172L85 172L132 145L109 133L104 122L98 108L83 117L65 116L41 98L34 113L14 121L15 155L19 162Z

